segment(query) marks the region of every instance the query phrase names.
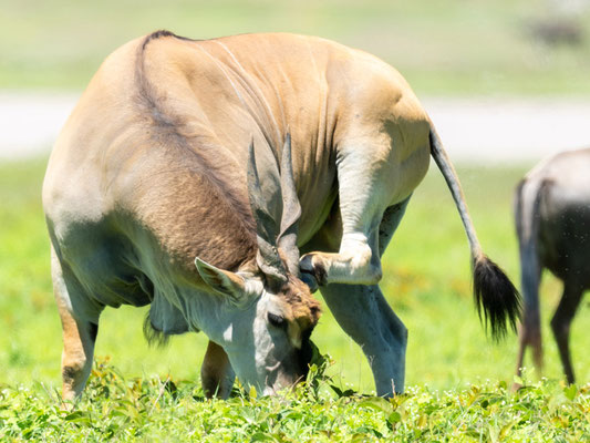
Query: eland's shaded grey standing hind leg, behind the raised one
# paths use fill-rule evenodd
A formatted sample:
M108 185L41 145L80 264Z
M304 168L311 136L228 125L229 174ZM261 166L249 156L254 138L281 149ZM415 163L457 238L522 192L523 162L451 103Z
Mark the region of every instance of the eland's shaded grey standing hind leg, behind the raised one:
M380 225L380 255L392 238L407 200L387 208ZM338 323L369 360L377 395L404 390L407 329L386 302L379 286L328 285L321 289Z

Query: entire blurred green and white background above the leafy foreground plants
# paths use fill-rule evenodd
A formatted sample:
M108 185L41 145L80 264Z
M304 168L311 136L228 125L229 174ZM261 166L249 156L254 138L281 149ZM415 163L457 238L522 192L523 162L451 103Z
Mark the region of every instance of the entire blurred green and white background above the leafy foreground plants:
M437 125L459 165L482 240L515 281L515 184L541 157L590 146L590 0L0 0L0 383L60 383L61 328L40 207L44 164L101 61L157 29L194 39L315 34L391 63ZM449 388L476 378L511 379L516 337L500 346L486 340L468 268L460 222L431 173L385 260L383 288L410 329L407 383ZM560 288L551 278L545 287L548 326ZM589 344L588 307L581 311L575 364L588 381L590 357L576 351ZM148 349L144 315L107 310L96 354L111 356L130 375L196 380L205 339L189 334L167 349ZM372 389L362 352L329 312L313 339L334 357L338 381ZM548 333L546 343L547 373L561 377Z

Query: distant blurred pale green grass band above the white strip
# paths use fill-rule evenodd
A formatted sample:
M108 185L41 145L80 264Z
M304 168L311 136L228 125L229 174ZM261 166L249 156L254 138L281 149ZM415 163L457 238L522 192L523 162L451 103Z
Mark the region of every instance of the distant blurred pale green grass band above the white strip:
M288 31L373 52L418 94L590 94L590 11L579 45L531 38L542 0L0 0L0 85L80 90L104 58L167 28L196 39Z

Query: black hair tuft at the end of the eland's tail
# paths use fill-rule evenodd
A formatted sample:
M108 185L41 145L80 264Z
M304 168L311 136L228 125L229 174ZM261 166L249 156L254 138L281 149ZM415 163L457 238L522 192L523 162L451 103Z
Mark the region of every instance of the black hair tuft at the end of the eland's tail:
M479 319L489 323L491 338L499 340L506 336L506 323L516 331L520 318L520 293L506 274L486 256L476 259L474 266L474 297Z

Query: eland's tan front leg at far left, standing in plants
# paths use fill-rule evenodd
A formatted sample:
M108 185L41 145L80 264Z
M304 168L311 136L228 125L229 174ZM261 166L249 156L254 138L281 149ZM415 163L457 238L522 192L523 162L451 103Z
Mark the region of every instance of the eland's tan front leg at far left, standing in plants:
M99 332L99 315L95 321L84 320L74 312L74 305L83 298L82 288L75 278L62 270L52 250L53 291L62 322L62 398L72 401L80 396L92 369L94 343Z

